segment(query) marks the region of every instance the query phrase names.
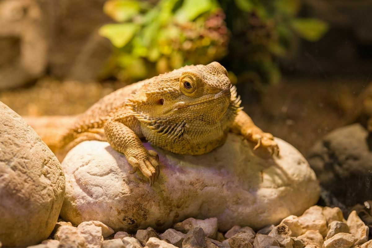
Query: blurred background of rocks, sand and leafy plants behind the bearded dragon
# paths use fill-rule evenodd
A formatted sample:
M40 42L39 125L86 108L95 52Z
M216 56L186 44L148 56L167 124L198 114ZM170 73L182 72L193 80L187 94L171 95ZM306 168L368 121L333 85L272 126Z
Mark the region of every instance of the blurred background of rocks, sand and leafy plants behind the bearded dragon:
M113 90L219 61L257 126L308 158L320 204L360 203L372 230L371 13L371 0L0 0L0 101L53 150L44 136Z

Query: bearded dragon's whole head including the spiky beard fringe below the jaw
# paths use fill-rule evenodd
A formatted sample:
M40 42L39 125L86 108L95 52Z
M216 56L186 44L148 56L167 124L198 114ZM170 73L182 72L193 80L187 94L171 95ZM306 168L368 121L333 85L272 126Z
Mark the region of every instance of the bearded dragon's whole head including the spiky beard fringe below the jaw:
M142 89L132 98L132 110L138 120L159 133L180 131L184 125L195 126L194 122L219 123L231 100L239 101L226 69L218 62L158 75L143 81Z

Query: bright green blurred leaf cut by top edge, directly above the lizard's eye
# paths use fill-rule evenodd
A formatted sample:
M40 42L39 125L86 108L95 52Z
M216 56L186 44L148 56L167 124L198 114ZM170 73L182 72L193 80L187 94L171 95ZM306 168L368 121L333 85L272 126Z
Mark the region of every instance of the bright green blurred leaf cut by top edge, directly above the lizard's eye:
M214 6L212 0L184 0L174 17L179 22L192 21L199 15L211 11Z

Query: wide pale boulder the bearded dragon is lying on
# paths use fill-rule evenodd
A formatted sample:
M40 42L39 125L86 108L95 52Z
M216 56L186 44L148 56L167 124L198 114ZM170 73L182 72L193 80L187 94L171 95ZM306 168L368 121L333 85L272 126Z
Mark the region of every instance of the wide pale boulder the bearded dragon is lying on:
M160 176L148 180L107 142L85 141L62 162L66 194L61 216L78 225L99 220L115 231L157 230L193 217L216 217L220 231L234 225L259 229L301 215L320 188L305 158L276 138L280 157L229 134L224 145L198 156L158 152Z

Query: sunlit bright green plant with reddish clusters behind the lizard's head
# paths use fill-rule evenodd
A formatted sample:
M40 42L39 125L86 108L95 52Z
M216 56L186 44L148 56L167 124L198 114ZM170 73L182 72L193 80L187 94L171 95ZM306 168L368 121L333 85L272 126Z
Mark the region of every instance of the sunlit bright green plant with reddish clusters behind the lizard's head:
M228 30L215 0L109 0L104 12L118 22L99 30L114 46L105 71L119 80L206 64L227 52Z

